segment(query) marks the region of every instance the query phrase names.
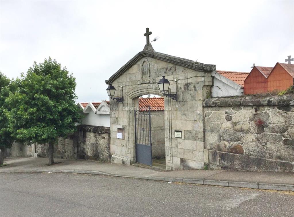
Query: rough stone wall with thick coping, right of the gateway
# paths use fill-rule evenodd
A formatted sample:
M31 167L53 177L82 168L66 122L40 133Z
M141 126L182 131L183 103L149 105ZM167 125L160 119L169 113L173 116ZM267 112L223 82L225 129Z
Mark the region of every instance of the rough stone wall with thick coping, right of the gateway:
M293 94L210 98L204 162L213 169L293 171Z

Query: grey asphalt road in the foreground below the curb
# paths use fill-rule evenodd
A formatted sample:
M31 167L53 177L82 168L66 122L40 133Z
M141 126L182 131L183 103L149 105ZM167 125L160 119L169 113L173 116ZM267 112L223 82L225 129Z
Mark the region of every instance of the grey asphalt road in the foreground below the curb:
M293 216L290 192L108 176L1 173L1 216Z

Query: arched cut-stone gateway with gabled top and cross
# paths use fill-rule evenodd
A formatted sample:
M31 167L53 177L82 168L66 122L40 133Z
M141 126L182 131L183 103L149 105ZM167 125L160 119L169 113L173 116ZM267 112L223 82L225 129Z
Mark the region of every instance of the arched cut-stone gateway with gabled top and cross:
M215 65L158 53L147 40L143 51L106 80L106 84L116 88L115 97L123 97L123 102L113 99L110 102L111 162L128 165L137 162L134 110L138 97L162 96L157 83L165 76L171 83L169 93L177 94L176 100L164 98L166 169L203 169L202 103L210 94L211 73L215 70ZM117 137L122 129L123 139ZM176 138L175 131L181 131L182 138Z

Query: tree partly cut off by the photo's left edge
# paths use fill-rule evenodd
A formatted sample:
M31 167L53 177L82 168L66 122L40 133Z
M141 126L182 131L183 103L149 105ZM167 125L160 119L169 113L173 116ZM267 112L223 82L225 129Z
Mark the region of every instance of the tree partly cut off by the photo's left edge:
M7 78L0 71L0 165L4 163L4 152L6 148L10 148L14 142L14 138L8 127L7 120L7 104L5 100L9 97L11 91L12 83L9 78Z

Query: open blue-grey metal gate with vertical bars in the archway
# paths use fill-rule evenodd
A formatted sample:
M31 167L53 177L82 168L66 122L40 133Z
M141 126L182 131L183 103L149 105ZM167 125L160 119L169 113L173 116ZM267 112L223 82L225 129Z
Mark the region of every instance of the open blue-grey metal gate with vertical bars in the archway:
M150 106L146 111L135 110L135 143L137 162L152 166Z

